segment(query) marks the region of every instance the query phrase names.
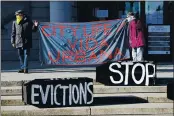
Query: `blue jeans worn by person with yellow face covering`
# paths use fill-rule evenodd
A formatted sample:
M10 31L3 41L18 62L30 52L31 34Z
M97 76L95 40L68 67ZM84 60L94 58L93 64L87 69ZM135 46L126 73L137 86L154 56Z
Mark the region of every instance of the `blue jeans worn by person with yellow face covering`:
M20 68L28 69L28 56L30 54L29 48L18 48L18 56L20 60Z

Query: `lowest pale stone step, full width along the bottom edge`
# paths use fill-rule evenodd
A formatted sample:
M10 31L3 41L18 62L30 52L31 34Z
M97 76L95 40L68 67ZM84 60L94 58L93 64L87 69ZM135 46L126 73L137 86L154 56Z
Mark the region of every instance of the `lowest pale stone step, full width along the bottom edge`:
M173 103L117 104L89 107L37 108L34 106L2 106L2 116L43 115L169 115L173 114Z

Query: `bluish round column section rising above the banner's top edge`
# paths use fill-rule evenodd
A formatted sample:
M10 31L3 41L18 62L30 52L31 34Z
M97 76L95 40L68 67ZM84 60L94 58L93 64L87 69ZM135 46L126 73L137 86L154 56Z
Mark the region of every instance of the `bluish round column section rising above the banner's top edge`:
M50 1L50 22L71 22L73 1Z

